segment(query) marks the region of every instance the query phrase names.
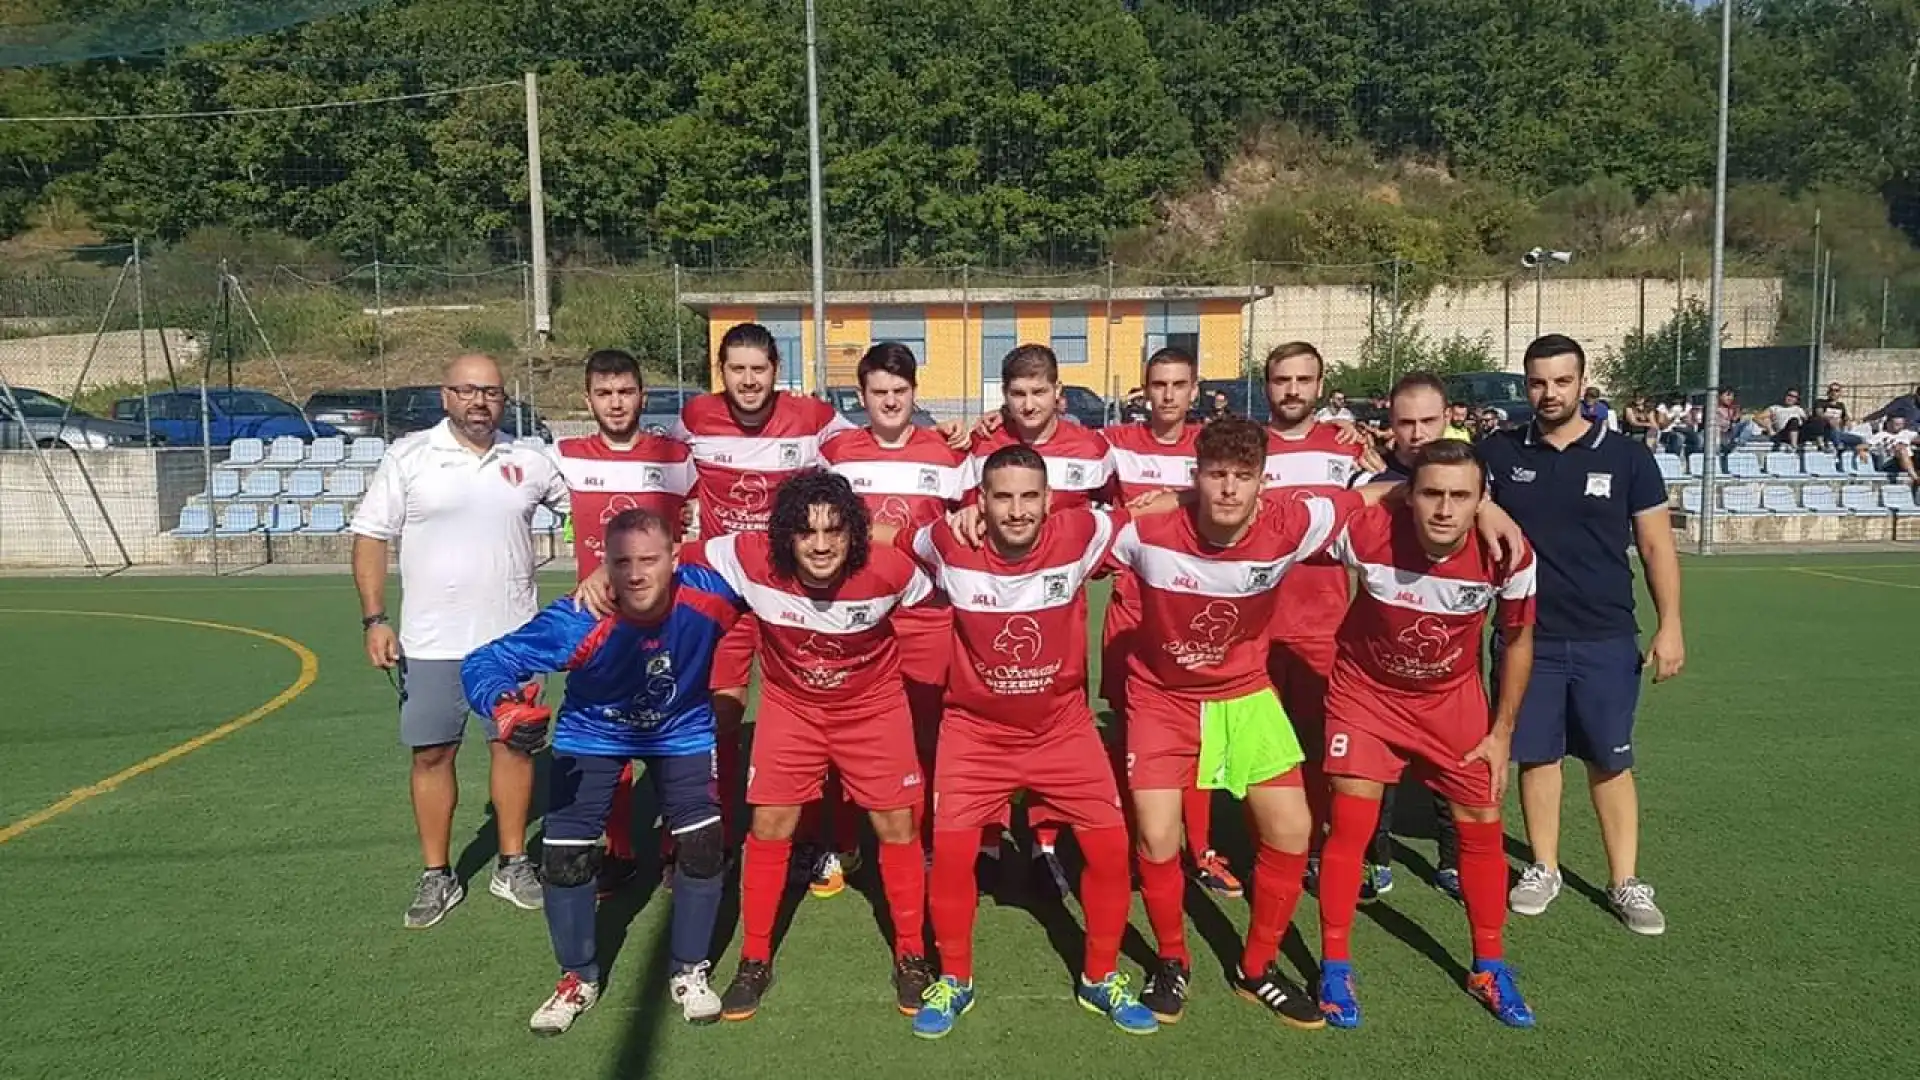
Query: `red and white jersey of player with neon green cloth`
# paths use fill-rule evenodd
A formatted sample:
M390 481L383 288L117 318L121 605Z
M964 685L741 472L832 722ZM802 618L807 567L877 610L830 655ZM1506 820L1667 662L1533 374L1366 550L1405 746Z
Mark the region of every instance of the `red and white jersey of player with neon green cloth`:
M1129 521L1114 563L1140 578L1140 646L1127 675L1200 700L1252 694L1267 682L1277 586L1319 555L1359 509L1357 492L1334 498L1265 496L1231 548L1215 548L1190 511Z

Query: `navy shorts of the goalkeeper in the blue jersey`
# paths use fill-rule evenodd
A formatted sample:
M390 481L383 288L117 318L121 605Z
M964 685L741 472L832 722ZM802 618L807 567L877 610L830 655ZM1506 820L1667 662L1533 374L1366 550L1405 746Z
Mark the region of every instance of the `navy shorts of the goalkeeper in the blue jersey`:
M636 757L653 784L666 830L693 832L720 821L720 790L714 778L714 755L678 753L670 757ZM547 773L547 830L545 844L593 844L607 830L612 813L612 790L626 769L626 757L595 757L584 753L555 753Z

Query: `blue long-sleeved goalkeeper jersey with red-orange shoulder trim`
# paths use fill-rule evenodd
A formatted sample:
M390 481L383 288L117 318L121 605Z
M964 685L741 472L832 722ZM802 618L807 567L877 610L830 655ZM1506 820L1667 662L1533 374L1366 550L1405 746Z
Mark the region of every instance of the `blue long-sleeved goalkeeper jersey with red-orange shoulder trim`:
M467 703L490 715L503 694L536 675L566 673L553 721L555 753L653 757L714 746L714 646L741 600L707 567L674 571L674 607L655 625L580 611L570 598L528 625L467 653Z

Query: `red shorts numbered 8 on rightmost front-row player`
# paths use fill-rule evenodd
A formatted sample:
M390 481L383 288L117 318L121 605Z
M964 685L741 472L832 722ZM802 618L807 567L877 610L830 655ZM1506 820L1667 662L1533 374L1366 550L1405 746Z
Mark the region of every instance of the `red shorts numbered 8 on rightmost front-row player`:
M1327 774L1396 784L1413 776L1463 807L1496 807L1484 761L1461 765L1492 728L1478 678L1452 690L1415 694L1382 686L1342 667L1327 690Z

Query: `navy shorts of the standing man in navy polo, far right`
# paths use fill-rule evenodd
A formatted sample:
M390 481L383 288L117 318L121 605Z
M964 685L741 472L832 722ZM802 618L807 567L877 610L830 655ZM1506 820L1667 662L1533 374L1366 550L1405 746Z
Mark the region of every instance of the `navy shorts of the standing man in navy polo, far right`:
M1500 657L1494 636L1494 686ZM1534 675L1513 728L1513 761L1546 765L1572 753L1605 773L1634 767L1634 709L1640 705L1640 640L1571 642L1534 636Z

